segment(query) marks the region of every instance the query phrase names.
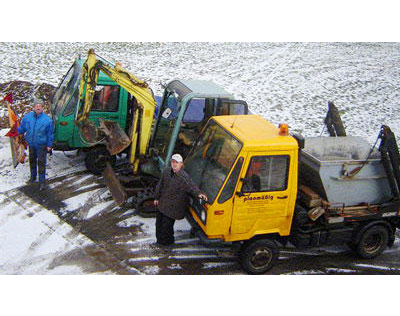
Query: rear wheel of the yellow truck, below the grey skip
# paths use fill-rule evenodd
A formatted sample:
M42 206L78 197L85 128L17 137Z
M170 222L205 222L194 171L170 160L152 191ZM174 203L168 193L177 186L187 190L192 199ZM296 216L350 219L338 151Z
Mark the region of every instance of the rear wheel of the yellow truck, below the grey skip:
M379 256L387 247L389 232L386 227L376 225L368 228L357 243L357 254L365 259Z

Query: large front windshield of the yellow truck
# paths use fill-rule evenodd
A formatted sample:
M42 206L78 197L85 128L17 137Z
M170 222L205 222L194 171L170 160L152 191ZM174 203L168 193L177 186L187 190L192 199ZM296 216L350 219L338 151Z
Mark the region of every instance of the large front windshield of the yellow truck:
M185 161L185 170L212 204L242 143L211 120Z

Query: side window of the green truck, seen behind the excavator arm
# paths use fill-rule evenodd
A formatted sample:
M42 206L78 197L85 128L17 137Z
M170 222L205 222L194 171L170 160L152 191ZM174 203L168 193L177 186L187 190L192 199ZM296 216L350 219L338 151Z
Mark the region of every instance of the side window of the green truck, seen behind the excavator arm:
M119 86L97 86L91 111L117 112Z

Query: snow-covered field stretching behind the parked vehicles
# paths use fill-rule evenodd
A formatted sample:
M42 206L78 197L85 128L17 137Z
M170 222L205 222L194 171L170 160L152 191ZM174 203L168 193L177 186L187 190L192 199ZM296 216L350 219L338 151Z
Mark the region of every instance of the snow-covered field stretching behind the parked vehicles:
M328 101L348 134L374 143L382 124L400 136L400 43L0 43L0 83L57 85L74 59L95 52L146 80L212 80L250 110L304 136L320 135Z

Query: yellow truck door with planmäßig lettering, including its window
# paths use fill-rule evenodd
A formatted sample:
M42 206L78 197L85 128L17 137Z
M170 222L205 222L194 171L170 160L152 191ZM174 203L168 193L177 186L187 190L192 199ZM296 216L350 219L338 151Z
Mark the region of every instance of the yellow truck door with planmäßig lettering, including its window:
M290 202L289 153L249 153L232 213L232 234L279 228Z

